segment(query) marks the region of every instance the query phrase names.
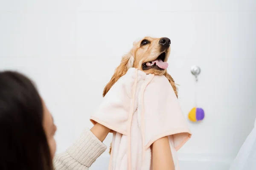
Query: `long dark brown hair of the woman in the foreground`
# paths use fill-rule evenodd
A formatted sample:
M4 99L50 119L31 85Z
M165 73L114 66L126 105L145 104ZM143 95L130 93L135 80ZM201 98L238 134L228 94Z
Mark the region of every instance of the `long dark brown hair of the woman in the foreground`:
M18 72L0 72L0 170L52 169L37 89Z

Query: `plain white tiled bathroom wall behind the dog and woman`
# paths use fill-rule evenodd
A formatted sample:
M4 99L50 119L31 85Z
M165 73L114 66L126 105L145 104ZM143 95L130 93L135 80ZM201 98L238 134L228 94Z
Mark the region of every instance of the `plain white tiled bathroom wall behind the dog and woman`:
M180 155L232 160L256 118L255 16L253 0L1 0L0 69L35 81L58 126L60 153L91 127L89 116L134 40L169 37L168 71L183 113L194 104L196 64L197 103L206 114L189 123L192 139Z

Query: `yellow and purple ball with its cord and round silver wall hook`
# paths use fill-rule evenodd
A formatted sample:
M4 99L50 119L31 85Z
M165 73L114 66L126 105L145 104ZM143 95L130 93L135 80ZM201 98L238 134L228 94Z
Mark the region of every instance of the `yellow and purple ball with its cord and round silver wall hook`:
M196 102L196 94L197 94L197 82L198 82L198 75L201 73L201 69L193 65L191 67L191 73L195 76L195 107L191 109L189 112L188 118L192 122L199 122L204 119L204 110L202 108L197 107L197 102Z

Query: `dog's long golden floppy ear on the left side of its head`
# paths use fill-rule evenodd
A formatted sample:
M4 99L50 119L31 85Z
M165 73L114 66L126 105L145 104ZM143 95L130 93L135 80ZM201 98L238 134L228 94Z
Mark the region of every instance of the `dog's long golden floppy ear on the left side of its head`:
M134 65L134 56L129 52L128 54L124 55L122 57L122 61L120 65L116 68L111 80L108 82L108 84L105 86L103 90L102 96L104 97L110 88L117 82L117 80L126 74L129 68L133 67Z

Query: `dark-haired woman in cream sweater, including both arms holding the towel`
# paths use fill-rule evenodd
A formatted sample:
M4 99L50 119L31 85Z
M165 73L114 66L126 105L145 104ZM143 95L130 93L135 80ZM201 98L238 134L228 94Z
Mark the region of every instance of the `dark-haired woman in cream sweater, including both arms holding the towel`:
M110 129L96 124L54 157L55 131L33 83L17 72L0 72L0 170L87 170L106 150L102 141ZM167 137L151 147L153 169L174 169Z

